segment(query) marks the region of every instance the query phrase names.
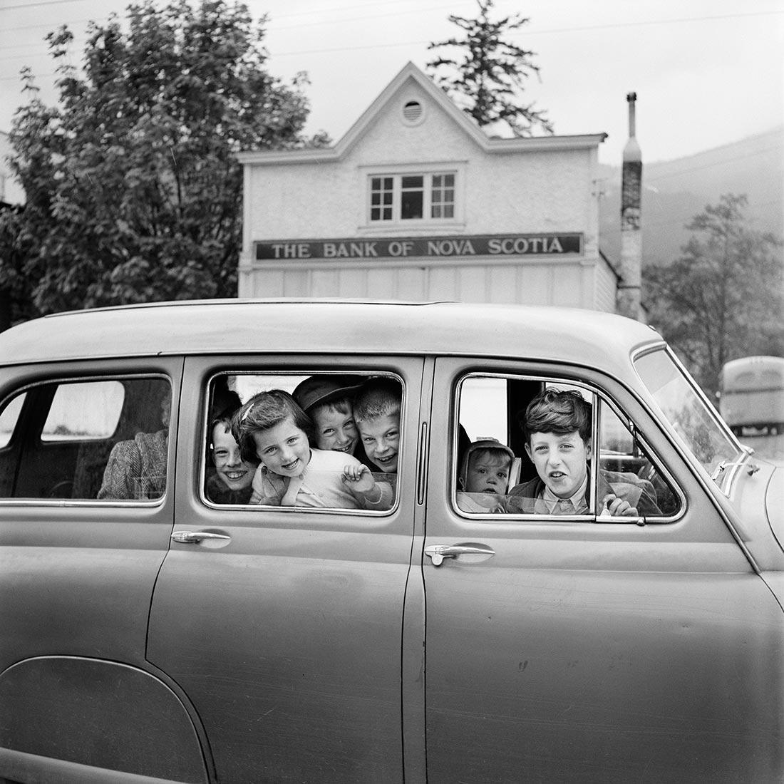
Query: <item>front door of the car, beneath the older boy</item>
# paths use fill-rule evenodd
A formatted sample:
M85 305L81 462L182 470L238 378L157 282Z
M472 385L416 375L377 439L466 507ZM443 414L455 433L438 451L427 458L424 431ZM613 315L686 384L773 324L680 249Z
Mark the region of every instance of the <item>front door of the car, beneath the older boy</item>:
M674 486L666 514L460 510L459 431L514 443L510 390L531 384L630 416ZM437 359L434 401L451 448L431 448L427 491L428 782L774 780L781 608L641 405L597 372L470 358Z

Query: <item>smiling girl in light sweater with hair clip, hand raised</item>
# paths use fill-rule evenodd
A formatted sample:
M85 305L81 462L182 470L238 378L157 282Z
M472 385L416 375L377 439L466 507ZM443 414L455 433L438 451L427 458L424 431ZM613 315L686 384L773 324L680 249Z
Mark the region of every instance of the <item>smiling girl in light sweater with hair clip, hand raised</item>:
M232 429L243 455L261 461L250 503L336 509L389 509L392 489L343 452L312 448L314 425L283 390L261 392L240 408Z

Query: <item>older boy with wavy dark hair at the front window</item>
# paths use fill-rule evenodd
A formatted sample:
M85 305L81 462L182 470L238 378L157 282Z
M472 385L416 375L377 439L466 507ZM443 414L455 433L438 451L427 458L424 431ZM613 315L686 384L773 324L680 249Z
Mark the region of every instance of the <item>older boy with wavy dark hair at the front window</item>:
M506 511L590 514L590 403L574 390L545 390L525 410L524 435L538 477L512 488ZM600 471L597 504L603 516L662 514L653 485L635 474Z

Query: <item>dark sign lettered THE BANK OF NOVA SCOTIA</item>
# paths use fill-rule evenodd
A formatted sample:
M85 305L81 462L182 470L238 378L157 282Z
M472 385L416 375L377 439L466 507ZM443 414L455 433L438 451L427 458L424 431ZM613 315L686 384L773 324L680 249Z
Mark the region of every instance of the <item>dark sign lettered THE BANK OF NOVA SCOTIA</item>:
M583 252L583 234L480 234L256 242L257 261L307 259L466 258L470 256L565 256Z

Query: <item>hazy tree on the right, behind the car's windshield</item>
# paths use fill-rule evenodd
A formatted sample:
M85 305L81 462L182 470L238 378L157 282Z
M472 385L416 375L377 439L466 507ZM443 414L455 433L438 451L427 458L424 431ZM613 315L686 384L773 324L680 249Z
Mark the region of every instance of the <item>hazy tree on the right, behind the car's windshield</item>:
M784 356L782 241L750 228L746 201L725 194L707 205L688 224L681 256L643 270L652 323L709 395L725 362Z

